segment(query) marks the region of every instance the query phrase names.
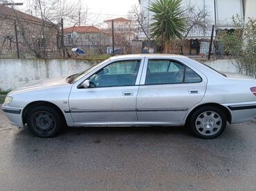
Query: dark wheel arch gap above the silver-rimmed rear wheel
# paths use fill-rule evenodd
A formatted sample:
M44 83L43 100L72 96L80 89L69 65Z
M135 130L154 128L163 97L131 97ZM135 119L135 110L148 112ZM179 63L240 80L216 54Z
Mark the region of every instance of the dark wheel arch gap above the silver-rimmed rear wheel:
M232 115L230 113L230 110L228 110L228 108L226 108L225 106L219 104L219 103L203 103L201 105L197 105L196 108L194 108L189 114L188 114L188 117L185 119L185 124L188 124L188 121L190 120L190 117L192 116L192 114L200 109L200 108L203 108L205 106L212 106L212 107L216 107L216 108L219 108L221 111L224 112L224 114L226 115L226 118L227 118L227 121L228 123L231 123L232 121Z

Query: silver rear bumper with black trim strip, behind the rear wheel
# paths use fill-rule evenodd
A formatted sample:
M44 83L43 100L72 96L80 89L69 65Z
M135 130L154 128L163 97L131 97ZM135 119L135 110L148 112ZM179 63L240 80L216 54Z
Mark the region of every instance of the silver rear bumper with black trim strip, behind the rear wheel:
M224 106L230 110L232 116L231 123L253 121L256 116L256 101L225 104Z

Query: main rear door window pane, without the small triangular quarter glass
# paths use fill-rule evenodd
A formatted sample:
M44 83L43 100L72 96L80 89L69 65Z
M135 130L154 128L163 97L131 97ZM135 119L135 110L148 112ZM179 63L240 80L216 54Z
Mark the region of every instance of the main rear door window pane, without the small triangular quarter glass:
M185 66L169 60L149 60L145 84L183 83Z

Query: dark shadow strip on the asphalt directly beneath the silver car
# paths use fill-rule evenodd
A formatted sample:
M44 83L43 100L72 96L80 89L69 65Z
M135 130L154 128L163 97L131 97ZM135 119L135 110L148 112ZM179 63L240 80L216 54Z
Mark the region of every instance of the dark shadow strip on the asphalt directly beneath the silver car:
M138 126L138 127L80 127L80 128L64 128L64 130L53 138L40 138L31 133L28 128L18 130L15 135L15 144L17 147L21 145L35 144L44 146L45 143L55 143L64 145L65 143L161 143L161 144L178 144L192 143L193 145L226 145L226 141L232 143L232 148L239 148L239 141L242 141L237 131L232 129L232 125L228 125L225 132L215 139L199 139L189 130L188 127L167 127L167 126ZM221 148L223 147L221 145ZM241 145L240 145L241 146ZM193 146L194 147L194 146ZM201 145L199 145L201 147ZM16 147L15 147L16 148Z

